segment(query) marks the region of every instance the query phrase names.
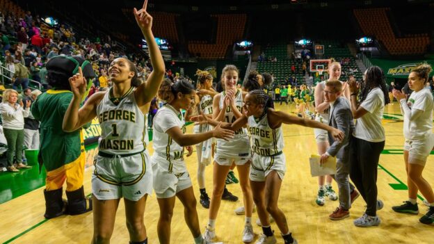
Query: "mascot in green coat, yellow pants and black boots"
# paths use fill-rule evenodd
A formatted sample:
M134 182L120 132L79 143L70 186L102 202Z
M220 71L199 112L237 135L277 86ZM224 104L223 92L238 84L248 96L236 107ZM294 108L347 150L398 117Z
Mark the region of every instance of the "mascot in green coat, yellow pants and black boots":
M45 183L45 218L62 214L77 215L92 210L92 200L86 198L83 189L84 150L81 129L63 131L63 117L72 100L68 79L77 74L79 67L92 85L95 72L92 65L79 56L55 56L46 65L47 81L52 87L33 102L31 112L40 124L40 152L38 161L47 170ZM66 181L67 201L62 199Z

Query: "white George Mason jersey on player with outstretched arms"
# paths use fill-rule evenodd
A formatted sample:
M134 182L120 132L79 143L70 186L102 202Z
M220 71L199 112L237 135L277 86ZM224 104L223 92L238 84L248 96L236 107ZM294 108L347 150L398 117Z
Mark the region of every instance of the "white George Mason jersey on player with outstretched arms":
M250 147L255 154L273 156L282 152L282 127L271 129L266 113L257 120L253 116L248 117L248 130L250 132Z

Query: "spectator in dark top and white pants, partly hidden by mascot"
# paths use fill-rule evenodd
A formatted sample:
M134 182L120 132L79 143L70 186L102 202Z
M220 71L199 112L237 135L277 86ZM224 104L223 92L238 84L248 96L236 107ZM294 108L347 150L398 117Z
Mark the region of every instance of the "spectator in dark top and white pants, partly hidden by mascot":
M24 90L23 104L30 101L32 104L35 99L41 95L40 90L31 91L30 88ZM39 149L39 121L35 120L32 113L29 113L29 117L24 117L24 145L28 149Z

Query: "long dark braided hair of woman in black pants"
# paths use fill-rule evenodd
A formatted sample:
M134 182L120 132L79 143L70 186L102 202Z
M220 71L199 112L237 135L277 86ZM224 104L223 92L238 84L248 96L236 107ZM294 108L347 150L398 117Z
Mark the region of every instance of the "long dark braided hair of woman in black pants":
M369 69L366 72L366 78L363 83L362 92L360 94L360 104L364 101L364 99L367 98L369 92L376 87L380 87L381 91L383 91L384 95L384 101L385 104L390 103L386 81L385 81L385 74L383 70L381 70L378 66L372 66L369 67Z

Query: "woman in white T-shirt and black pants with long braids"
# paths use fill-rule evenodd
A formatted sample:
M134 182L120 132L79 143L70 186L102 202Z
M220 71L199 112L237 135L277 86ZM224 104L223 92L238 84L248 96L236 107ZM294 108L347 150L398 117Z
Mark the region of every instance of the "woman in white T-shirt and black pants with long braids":
M365 72L362 86L360 101L357 101L360 84L355 79L350 81L351 111L357 119L350 146L350 177L367 203L365 213L354 225L370 227L381 222L376 215L376 211L383 208L383 202L377 200L377 168L386 140L381 119L390 100L380 67L372 66Z

